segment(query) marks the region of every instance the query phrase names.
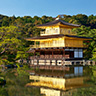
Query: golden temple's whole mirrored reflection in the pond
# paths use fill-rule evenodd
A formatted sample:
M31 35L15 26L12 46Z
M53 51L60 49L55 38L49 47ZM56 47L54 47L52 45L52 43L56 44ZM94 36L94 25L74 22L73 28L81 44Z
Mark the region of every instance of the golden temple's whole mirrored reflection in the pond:
M34 82L27 85L40 87L41 94L45 96L71 96L70 91L86 86L84 81L87 80L87 71L83 66L70 67L70 70L66 71L38 69L30 75L30 80Z

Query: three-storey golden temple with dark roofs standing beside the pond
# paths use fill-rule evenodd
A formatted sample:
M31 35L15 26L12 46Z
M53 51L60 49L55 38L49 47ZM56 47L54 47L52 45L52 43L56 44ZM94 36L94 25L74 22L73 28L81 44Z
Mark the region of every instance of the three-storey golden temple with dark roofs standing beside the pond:
M80 25L56 18L37 27L45 31L41 31L39 37L26 38L28 41L34 41L34 45L30 45L28 51L34 53L34 56L30 56L30 66L42 66L41 69L55 66L54 69L58 69L57 66L83 61L83 49L86 48L83 41L92 38L77 36L77 33L72 31Z

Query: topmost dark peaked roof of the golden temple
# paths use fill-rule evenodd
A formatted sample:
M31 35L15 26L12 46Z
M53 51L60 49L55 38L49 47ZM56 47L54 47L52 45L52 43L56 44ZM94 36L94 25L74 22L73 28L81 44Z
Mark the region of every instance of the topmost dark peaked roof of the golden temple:
M74 26L74 27L80 27L80 25L77 25L77 24L72 24L72 23L67 23L61 19L56 19L52 22L48 22L46 24L41 24L41 25L38 25L37 27L40 27L40 26L50 26L50 25L54 25L54 24L58 24L58 23L61 23L63 25L69 25L69 26Z

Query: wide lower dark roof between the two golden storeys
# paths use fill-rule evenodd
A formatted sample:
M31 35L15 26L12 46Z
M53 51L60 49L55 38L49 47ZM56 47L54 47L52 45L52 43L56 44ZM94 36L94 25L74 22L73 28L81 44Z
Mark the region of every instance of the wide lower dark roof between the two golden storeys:
M73 38L85 38L85 39L92 39L91 37L82 37L82 36L74 36L74 35L64 35L64 34L58 34L58 35L47 35L47 36L39 36L39 37L33 37L33 38L26 38L28 39L50 39L50 38L59 38L59 37L73 37Z

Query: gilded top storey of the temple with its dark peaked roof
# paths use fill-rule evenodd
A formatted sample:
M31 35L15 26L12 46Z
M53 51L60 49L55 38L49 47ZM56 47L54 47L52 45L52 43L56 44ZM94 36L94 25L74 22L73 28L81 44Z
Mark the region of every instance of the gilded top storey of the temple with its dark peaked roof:
M37 27L45 29L45 31L40 32L40 36L56 35L56 34L76 35L76 32L72 32L72 29L80 27L80 25L67 23L57 18L52 22L38 25Z

